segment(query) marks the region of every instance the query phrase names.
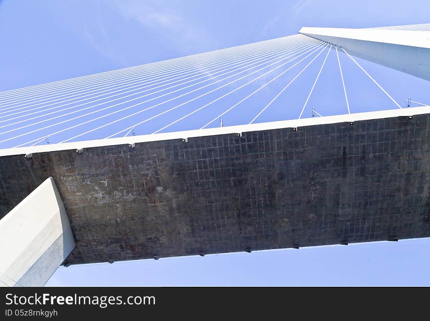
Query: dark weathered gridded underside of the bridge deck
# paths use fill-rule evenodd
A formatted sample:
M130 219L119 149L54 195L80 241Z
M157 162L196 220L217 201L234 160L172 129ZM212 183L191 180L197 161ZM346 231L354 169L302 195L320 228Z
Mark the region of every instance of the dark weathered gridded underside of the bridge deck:
M48 176L74 263L430 236L429 114L0 158L0 217Z

